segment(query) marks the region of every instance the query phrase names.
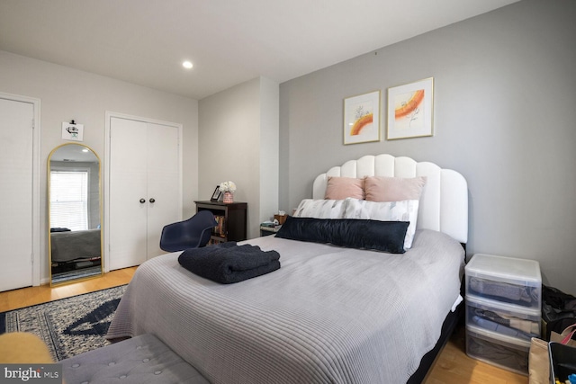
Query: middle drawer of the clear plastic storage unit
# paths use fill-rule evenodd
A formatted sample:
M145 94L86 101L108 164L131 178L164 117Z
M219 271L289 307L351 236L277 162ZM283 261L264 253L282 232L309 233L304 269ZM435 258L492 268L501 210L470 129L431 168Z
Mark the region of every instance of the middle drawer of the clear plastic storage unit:
M500 301L466 296L466 326L530 341L540 337L540 312Z

